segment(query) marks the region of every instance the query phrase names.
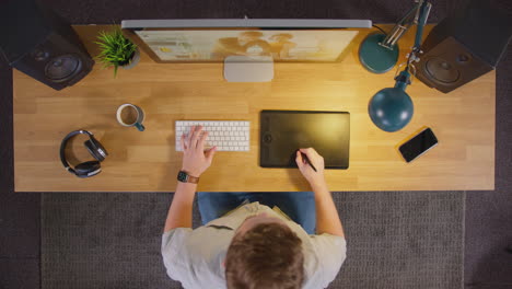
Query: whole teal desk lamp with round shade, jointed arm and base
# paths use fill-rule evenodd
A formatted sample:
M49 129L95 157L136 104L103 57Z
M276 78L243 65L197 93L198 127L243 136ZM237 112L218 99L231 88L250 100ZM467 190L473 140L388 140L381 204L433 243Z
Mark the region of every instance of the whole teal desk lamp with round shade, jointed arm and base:
M427 23L427 18L430 13L431 7L432 5L429 2L418 0L416 7L407 13L407 15L392 30L387 36L385 36L382 43L379 43L377 37L371 35L361 45L362 47L360 50L360 59L363 66L368 66L366 68L373 67L383 69L383 61L387 61L389 65L391 58L383 58L384 60L379 60L377 62L372 63L371 60L376 59L373 56L376 55L379 57L384 57L387 55L395 57L394 54L398 55L396 42L404 35L404 33L412 23L417 24L415 46L407 55L408 59L405 65L405 69L395 77L395 86L379 91L375 95L373 95L368 106L368 112L373 124L375 124L384 131L397 131L405 127L412 118L412 101L405 92L405 89L410 84L410 72L412 71L412 73L416 74L416 68L412 62L418 62L418 55L422 53L420 50L421 37L423 35L423 26ZM383 34L376 35L380 35L381 38L383 37ZM374 43L375 45L372 45L371 43ZM375 53L374 55L371 54L372 49ZM388 54L387 51L392 51L392 54ZM394 65L395 62L393 62L393 66ZM388 70L391 68L385 69ZM372 71L370 68L369 70Z

